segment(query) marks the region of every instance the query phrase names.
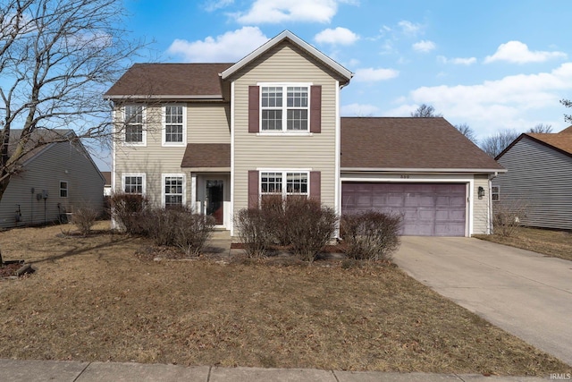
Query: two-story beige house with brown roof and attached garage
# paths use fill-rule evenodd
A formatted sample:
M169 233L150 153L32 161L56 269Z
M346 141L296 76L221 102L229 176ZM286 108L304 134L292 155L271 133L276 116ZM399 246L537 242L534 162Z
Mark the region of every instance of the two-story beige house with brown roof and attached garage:
M399 212L413 227L405 233L488 232L490 198L481 192L488 195L490 175L501 166L442 118L434 123L404 118L409 122L397 126L395 119L364 118L370 121L366 130L345 119L343 133L340 91L351 77L348 69L288 30L235 64L135 64L105 94L114 101L114 120L122 129L122 140L114 144L113 189L146 194L164 207L192 206L214 216L231 234L232 216L241 208L256 208L265 194L307 195L341 212L342 191L349 195L356 187L369 194L345 198L345 209ZM418 163L387 167L382 147L371 145L381 143L389 129L393 149L388 154L399 154L400 128L408 129L408 140L421 130L434 132L435 138L425 141L438 143L439 149L424 149L442 159L425 166L432 156L425 152ZM360 141L366 143L363 149ZM447 142L460 145L455 156L443 152ZM351 159L344 168L344 158L359 161L363 155L369 159ZM468 159L458 164L459 157ZM398 191L397 204L383 206L383 200L397 199L391 191L366 187L372 183L410 187ZM433 186L416 187L419 183ZM454 196L447 196L453 191L442 183L458 185ZM473 201L477 193L480 202ZM365 199L369 202L363 204ZM420 214L424 217L417 221ZM476 224L477 219L482 221ZM416 230L419 222L432 228Z

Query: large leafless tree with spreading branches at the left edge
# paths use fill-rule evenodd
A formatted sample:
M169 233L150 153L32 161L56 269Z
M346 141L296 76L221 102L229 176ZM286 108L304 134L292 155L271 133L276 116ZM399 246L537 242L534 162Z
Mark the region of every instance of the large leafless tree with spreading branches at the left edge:
M0 0L0 200L29 151L111 137L102 96L143 47L123 15L116 0Z

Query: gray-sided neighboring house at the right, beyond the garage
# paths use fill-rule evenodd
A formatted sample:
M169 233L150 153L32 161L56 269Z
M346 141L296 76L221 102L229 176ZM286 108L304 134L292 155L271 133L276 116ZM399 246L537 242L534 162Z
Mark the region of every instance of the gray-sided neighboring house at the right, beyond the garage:
M572 126L521 134L496 159L509 172L492 181L494 203L523 208L523 225L572 229Z

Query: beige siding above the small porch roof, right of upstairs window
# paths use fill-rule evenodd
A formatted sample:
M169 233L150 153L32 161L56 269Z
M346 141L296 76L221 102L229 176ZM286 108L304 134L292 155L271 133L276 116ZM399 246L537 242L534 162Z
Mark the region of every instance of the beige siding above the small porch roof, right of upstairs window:
M188 143L231 143L229 105L189 104L187 123Z

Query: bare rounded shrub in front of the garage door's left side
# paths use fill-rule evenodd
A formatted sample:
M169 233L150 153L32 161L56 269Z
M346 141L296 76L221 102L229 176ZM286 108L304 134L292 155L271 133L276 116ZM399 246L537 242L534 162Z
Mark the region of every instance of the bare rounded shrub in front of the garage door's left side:
M374 210L344 214L340 220L344 251L349 258L391 260L400 248L402 216Z

